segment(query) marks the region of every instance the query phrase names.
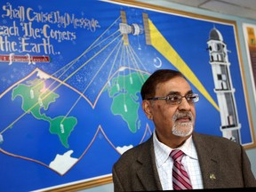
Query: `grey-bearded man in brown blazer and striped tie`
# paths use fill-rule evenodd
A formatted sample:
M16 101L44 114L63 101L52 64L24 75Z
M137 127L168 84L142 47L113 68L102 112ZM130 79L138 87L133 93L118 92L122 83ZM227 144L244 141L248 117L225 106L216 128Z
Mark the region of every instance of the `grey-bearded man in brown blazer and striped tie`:
M179 71L156 70L142 85L140 94L142 108L155 124L155 131L150 139L127 150L114 164L116 192L256 187L250 161L241 145L194 132L199 96ZM186 173L188 180L181 187L177 182L185 176L175 175L178 166L171 157L173 149L184 154L180 166L185 167L181 172Z

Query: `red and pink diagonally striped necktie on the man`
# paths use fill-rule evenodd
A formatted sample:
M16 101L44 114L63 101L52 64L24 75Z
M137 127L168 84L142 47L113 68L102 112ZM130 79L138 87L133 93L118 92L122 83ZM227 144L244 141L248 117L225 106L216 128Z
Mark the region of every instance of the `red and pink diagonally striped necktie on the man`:
M174 190L192 189L192 185L188 177L188 172L186 172L183 164L181 164L183 155L183 152L177 149L172 150L170 154L173 159L172 186Z

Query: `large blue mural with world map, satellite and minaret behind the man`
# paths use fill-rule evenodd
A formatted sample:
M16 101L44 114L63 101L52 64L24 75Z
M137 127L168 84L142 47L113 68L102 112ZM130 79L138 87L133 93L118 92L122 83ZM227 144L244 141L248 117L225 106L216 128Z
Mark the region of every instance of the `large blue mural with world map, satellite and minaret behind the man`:
M119 156L154 132L140 87L158 68L180 70L199 93L196 132L255 145L235 23L113 1L54 4L1 1L0 191L111 182Z

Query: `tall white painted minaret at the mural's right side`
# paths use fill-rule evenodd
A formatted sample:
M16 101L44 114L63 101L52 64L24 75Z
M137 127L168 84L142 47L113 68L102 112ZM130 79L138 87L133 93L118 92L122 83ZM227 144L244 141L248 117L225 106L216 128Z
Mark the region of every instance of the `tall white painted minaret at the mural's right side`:
M215 86L214 92L217 94L220 108L220 131L223 137L240 143L241 124L239 124L236 110L234 95L236 90L233 88L229 70L227 44L224 43L220 31L216 28L212 28L207 44Z

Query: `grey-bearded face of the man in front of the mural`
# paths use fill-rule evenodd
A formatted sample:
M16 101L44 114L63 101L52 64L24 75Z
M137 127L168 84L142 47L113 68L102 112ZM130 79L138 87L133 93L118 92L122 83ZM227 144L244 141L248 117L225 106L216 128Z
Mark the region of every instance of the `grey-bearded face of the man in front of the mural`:
M185 96L191 92L186 79L176 76L165 83L157 84L155 97L166 97L170 94ZM155 124L158 140L165 143L177 136L187 140L193 132L196 119L195 104L188 103L186 98L183 97L180 104L175 105L167 103L166 100L144 100L143 102L145 102L143 106L148 107L150 112L150 116L149 113L146 115Z

